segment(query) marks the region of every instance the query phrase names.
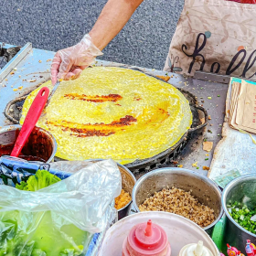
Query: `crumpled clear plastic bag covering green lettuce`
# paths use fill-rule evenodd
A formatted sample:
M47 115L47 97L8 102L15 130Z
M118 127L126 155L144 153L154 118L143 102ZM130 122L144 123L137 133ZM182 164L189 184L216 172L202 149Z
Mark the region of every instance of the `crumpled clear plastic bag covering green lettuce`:
M0 186L0 256L84 255L109 225L121 184L118 166L105 160L37 192Z

